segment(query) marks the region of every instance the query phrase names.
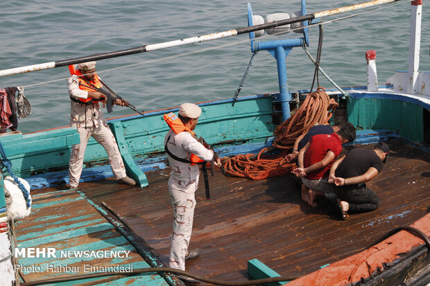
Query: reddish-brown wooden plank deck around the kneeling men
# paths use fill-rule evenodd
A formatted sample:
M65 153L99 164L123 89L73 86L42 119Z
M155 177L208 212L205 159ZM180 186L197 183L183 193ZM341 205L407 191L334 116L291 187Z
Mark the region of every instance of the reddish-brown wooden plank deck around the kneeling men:
M187 270L247 280L247 262L257 258L281 275L307 274L365 249L396 226L415 222L430 208L430 154L402 141L391 142L390 148L384 170L368 184L381 206L347 221L331 215L324 200L316 208L307 206L289 176L251 181L225 177L218 170L209 176L209 201L200 178L190 243L200 257L187 262ZM124 217L167 264L172 231L169 170L147 176L150 185L144 189L107 179L80 184L80 190Z

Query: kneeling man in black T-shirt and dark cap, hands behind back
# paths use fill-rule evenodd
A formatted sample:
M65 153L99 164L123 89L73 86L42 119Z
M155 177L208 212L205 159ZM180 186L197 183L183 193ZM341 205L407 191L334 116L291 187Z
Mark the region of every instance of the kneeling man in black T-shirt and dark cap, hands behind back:
M350 213L374 211L379 198L365 182L375 178L384 167L390 148L377 143L373 150L355 148L333 163L329 183L336 184L338 205L334 206L343 220Z

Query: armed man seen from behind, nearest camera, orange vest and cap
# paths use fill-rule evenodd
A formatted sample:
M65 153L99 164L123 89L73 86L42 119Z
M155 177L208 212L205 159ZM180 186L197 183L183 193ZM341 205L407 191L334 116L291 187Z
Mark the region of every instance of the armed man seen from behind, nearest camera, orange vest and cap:
M173 234L169 266L185 270L185 260L196 258L198 251L188 251L189 240L193 227L195 193L198 186L200 168L196 163L212 161L214 151L205 148L197 141L193 129L196 128L202 110L193 103L180 106L179 115L164 115L166 123L171 127L164 138L164 147L171 166L169 193L173 206ZM215 166L221 166L216 159ZM185 283L198 283L187 276L178 276Z

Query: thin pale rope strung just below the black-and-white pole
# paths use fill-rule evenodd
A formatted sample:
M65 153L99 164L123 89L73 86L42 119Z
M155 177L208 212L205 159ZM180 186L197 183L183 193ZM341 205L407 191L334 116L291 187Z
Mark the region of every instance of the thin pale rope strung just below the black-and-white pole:
M409 3L409 2L411 2L411 0L399 1L399 2L396 2L394 4L393 3L389 4L389 5L386 4L386 5L383 5L383 6L379 6L377 8L373 8L373 9L368 10L368 11L356 13L354 15L345 16L345 17L341 17L341 18L336 18L336 19L332 19L332 20L329 20L329 21L322 21L320 23L311 24L309 26L298 27L298 28L291 28L291 30L298 30L298 29L302 29L302 28L311 28L311 27L318 26L318 25L323 25L323 24L324 25L325 24L331 24L331 23L334 23L336 21L342 21L344 19L348 19L348 18L351 18L351 17L356 17L356 16L359 16L359 15L363 15L363 14L367 14L367 13L370 13L370 12L374 12L374 11L379 10L379 9L390 8L391 6L397 6L397 5L401 5L401 4ZM272 36L279 35L279 34L282 34L282 32L274 33L272 35L264 35L264 36L261 36L259 38L272 37ZM243 43L249 42L249 41L250 41L250 39L242 39L242 40L239 40L239 41L236 41L236 42L233 42L233 43L222 44L222 45L212 46L212 47L208 47L208 48L202 48L200 50L189 51L187 53L180 53L178 55L170 55L170 56L167 56L167 57L160 57L160 58L155 59L155 60L147 60L147 61L143 61L143 62L136 62L135 64L126 64L124 66L117 66L117 67L112 68L112 69L105 69L103 71L97 71L97 73L98 74L102 74L102 73L107 73L107 72L110 72L110 71L117 71L119 69L128 69L128 68L133 67L133 66L139 66L139 65L144 65L144 64L151 64L151 63L154 63L154 62L161 62L161 61L164 61L164 60L171 60L171 59L174 59L176 57L183 57L185 55L193 55L195 53L203 53L205 51L212 51L212 50L216 50L218 48L223 48L223 47L227 47L227 46L234 46L234 45L237 45L237 44L243 44ZM41 85L41 84L49 84L49 83L52 83L52 82L59 82L59 81L62 81L62 80L67 80L68 78L69 77L67 77L67 78L58 78L57 80L49 80L49 81L46 81L46 82L39 82L39 83L35 83L35 84L28 84L28 85L25 85L24 87L25 88L35 87L35 86Z

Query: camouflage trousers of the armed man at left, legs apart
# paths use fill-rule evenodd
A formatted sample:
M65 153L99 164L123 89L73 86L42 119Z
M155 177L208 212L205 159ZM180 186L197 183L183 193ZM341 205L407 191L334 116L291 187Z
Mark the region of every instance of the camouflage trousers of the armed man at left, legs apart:
M72 125L72 127L75 127ZM85 149L89 138L92 136L103 148L105 148L107 157L109 157L110 168L114 177L122 179L126 177L126 168L124 168L121 153L119 153L117 141L109 127L99 125L98 127L78 127L80 143L71 146L71 154L69 161L69 184L71 188L76 188L79 184L80 175L82 173Z

